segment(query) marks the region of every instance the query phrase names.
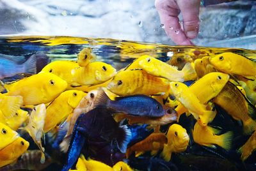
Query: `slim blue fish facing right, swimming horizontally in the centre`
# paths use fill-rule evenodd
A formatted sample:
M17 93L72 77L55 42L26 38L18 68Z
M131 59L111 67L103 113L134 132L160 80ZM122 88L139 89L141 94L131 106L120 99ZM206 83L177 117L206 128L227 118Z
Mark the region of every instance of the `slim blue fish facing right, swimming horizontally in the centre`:
M94 104L95 107L104 106L112 108L116 112L137 116L161 117L165 114L163 106L154 98L145 95L133 95L117 97L112 101L103 89L99 89Z

